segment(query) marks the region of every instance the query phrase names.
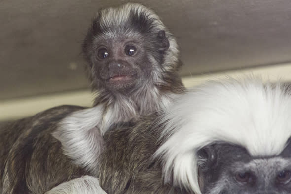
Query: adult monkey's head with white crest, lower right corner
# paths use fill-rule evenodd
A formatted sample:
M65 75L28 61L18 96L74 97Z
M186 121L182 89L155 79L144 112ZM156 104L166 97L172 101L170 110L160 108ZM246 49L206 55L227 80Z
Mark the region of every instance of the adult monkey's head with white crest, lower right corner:
M211 82L162 118L165 182L195 194L291 193L291 90L257 79Z

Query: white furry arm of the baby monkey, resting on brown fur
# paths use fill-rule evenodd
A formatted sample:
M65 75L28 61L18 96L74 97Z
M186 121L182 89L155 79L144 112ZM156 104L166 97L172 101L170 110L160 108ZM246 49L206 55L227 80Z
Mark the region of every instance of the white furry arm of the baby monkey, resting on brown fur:
M102 151L103 104L74 112L64 118L53 136L62 143L64 154L83 167L94 170Z

